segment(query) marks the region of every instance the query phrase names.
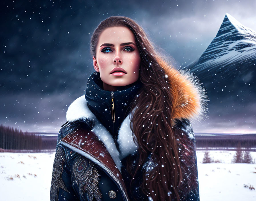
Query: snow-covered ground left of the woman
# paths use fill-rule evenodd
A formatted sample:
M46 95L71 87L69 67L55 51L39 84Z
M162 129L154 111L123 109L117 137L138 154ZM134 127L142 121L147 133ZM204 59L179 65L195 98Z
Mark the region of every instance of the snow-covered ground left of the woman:
M0 200L50 200L55 153L0 153Z

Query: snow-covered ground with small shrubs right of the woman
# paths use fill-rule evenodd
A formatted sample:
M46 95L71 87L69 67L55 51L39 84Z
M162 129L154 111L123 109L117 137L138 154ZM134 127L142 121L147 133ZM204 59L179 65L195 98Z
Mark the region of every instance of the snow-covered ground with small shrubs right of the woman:
M255 201L256 164L231 163L235 151L210 151L210 157L221 163L203 164L204 151L197 151L200 201ZM251 152L256 158L256 152ZM255 172L255 173L253 173Z

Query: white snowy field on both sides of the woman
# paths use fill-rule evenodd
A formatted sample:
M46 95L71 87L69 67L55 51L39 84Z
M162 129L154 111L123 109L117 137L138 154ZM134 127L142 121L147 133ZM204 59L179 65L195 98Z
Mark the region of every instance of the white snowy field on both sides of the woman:
M1 201L47 201L55 153L0 153ZM197 151L200 201L256 200L256 164L232 164L235 151L210 151L221 163L202 164ZM251 152L256 158L256 152Z

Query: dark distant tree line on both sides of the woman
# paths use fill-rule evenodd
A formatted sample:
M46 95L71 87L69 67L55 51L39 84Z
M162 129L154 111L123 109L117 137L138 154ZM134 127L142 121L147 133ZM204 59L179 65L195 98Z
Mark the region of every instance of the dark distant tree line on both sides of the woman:
M39 135L36 132L22 132L17 128L0 125L0 149L4 150L54 150L57 144L56 135ZM237 148L239 143L245 150L255 150L256 134L236 135L195 135L196 148L227 149ZM253 148L253 149L251 149ZM1 151L1 150L0 150Z

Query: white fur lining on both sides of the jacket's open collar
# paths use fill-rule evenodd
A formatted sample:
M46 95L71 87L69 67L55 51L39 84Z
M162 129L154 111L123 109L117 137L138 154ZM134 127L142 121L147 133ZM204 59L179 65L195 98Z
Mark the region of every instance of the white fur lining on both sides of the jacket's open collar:
M71 103L66 114L68 122L74 122L76 120L82 119L85 120L85 118L92 119L95 122L92 131L104 143L120 172L122 166L121 160L129 154L134 154L137 150L137 145L133 141L129 116L130 114L122 122L121 127L118 131L117 142L120 147L120 154L109 131L105 128L105 126L103 126L103 124L101 124L101 122L88 108L87 101L84 95L77 98Z

